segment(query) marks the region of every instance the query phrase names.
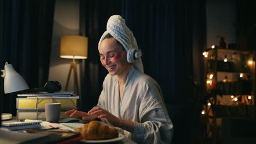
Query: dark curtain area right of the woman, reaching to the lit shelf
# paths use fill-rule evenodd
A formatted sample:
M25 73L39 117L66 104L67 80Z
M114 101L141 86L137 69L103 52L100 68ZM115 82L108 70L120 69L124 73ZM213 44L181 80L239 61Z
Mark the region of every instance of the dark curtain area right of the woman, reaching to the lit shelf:
M205 1L141 2L124 1L124 19L142 50L145 73L161 86L174 124L173 143L192 143L201 107L194 88L205 87Z

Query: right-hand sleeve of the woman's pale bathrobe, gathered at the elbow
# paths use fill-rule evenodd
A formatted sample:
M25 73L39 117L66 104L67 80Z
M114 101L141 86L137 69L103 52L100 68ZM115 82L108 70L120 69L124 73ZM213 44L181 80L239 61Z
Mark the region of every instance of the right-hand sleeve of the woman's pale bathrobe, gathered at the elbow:
M171 143L173 125L158 83L149 80L138 85L144 85L138 113L140 122L135 122L131 138L138 143Z

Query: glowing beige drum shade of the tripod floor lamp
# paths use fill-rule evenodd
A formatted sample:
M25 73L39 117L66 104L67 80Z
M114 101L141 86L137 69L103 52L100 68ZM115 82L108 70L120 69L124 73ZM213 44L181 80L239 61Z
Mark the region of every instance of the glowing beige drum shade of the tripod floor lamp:
M88 38L79 35L62 35L60 45L61 58L86 59Z

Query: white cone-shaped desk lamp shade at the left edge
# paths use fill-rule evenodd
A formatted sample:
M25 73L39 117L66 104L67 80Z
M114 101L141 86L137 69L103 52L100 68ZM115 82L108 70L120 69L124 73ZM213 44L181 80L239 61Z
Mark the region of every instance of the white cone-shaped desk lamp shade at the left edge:
M23 77L18 74L13 65L8 64L7 62L4 65L4 70L2 77L4 77L4 93L13 93L29 89L26 81Z

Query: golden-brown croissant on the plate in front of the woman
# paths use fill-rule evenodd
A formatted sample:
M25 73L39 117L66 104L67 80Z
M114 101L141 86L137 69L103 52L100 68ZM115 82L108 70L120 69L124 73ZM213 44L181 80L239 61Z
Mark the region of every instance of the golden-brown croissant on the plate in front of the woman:
M98 121L86 123L82 128L75 129L75 132L80 133L86 140L104 140L118 137L118 130L109 128L108 125L101 124Z

